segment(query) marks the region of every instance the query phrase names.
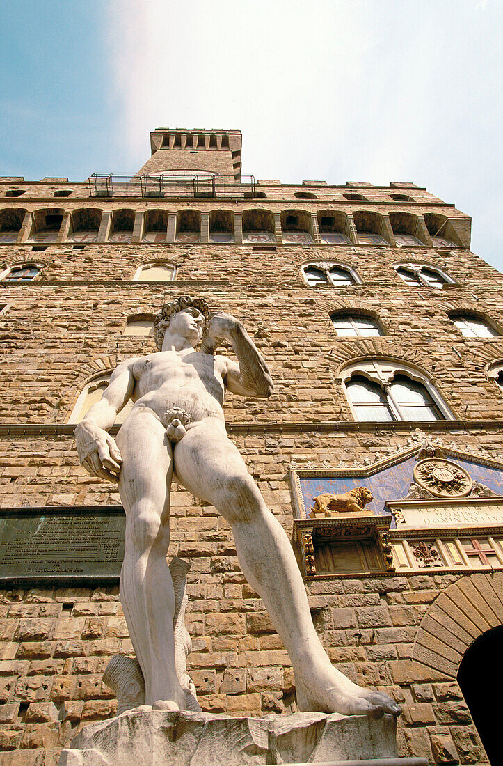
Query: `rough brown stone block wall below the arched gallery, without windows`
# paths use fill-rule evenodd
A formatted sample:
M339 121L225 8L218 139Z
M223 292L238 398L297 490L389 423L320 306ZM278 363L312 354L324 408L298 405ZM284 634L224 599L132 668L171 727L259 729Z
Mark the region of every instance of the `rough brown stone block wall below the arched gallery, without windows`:
M2 247L2 268L24 257L44 265L31 283L0 282L0 303L8 304L0 315L2 507L119 502L112 485L94 480L78 464L64 426L93 372L154 351L152 339L122 335L128 316L155 313L170 296L187 293L242 319L271 368L275 392L268 401L229 395L225 412L234 427L231 438L288 535L291 460L300 466L321 466L324 460L351 465L407 447L416 427L357 429L339 376L345 361L381 353L419 368L459 421L433 424L430 433L460 449L501 457L493 421L503 418L503 399L485 366L503 358L503 338L465 339L448 312L477 312L503 330L503 277L468 250L449 252L313 245L278 246L264 254L234 245L73 250L62 244L31 253L29 247ZM139 264L152 258L177 265L175 282L131 281ZM347 264L362 284L309 287L300 271L308 260ZM456 284L443 290L407 286L392 267L410 260L442 268ZM386 334L338 338L329 320L338 309L370 312ZM23 424L40 424L40 433L23 435L14 428ZM291 424L291 432L283 434L282 424ZM170 555L192 564L189 664L201 706L236 715L295 709L289 659L243 578L227 523L175 486L171 531ZM426 755L432 764L487 762L459 687L439 673L420 671L410 659L426 608L458 576L351 575L306 583L332 662L403 705L400 755ZM2 591L2 766L57 764L60 748L77 728L113 715L115 702L101 676L118 651L132 647L117 588Z

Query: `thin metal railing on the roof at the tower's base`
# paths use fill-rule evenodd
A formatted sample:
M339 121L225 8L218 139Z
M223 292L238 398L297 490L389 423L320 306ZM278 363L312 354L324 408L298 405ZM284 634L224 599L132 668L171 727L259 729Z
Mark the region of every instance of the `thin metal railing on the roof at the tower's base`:
M234 175L120 175L93 173L90 175L91 197L185 197L191 199L231 197L253 198L256 181L244 175L237 182Z

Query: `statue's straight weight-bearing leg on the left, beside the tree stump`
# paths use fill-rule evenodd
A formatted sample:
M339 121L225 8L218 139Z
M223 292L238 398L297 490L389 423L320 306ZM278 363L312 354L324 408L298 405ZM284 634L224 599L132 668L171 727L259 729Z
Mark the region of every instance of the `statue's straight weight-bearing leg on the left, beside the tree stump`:
M145 678L145 704L183 708L185 694L175 672L175 594L166 562L171 444L165 428L146 410L126 418L117 444L122 454L119 495L126 510L120 596Z

